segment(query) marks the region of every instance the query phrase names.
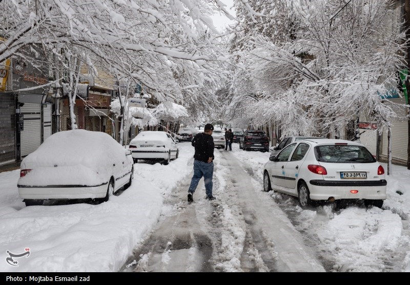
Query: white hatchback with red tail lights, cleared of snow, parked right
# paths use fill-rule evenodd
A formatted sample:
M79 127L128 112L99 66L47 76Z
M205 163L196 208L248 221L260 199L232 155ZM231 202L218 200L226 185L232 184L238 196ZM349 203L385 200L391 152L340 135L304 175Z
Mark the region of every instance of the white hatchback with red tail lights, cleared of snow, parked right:
M347 140L295 141L263 167L263 189L296 196L302 208L358 200L381 208L386 185L384 169L370 151Z

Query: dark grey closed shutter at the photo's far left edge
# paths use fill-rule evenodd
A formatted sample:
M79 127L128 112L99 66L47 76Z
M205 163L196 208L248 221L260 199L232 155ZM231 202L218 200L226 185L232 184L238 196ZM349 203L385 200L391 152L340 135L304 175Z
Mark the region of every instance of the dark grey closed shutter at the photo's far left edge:
M0 165L15 161L14 95L0 95Z

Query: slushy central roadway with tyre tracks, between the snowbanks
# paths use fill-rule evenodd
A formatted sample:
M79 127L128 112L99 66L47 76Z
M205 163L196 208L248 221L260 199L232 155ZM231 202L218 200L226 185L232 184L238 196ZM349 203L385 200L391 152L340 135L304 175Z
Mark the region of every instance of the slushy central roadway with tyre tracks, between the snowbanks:
M122 270L324 272L283 211L260 191L249 165L229 151L215 156L217 200L204 200L202 179L194 202L186 201L191 173L166 201L175 211L161 218Z

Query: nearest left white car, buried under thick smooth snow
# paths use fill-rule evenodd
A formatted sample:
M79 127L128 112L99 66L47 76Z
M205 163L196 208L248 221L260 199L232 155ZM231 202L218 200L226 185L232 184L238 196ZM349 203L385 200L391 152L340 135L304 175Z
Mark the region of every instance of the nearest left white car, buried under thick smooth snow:
M133 179L131 151L110 135L84 129L59 131L20 164L18 194L26 206L44 200L108 201Z

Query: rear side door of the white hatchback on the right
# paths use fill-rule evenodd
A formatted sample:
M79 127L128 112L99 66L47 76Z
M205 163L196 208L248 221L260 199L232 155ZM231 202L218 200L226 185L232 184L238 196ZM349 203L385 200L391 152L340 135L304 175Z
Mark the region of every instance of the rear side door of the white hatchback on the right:
M299 143L296 146L295 151L292 153L290 161L285 165L284 186L289 188L289 191L295 195L297 194L296 181L298 179L299 170L309 147L310 146L307 143Z

